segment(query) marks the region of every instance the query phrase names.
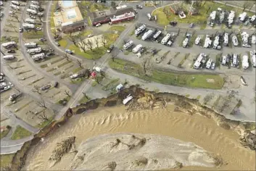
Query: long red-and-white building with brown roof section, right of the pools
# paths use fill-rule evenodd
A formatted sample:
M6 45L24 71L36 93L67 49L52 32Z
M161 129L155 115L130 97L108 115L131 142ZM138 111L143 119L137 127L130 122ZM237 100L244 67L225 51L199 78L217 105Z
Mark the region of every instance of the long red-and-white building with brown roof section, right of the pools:
M117 23L125 20L133 20L135 16L133 7L123 5L120 7L111 7L110 9L99 12L92 12L91 22L92 25L108 22Z

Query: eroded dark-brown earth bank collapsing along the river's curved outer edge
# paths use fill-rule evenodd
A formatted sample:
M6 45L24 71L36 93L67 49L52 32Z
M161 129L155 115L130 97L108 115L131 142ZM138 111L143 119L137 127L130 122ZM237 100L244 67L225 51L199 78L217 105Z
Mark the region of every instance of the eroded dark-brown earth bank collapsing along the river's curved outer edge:
M51 122L50 125L46 126L46 128L36 134L32 141L25 143L24 146L22 146L22 149L17 151L17 154L15 154L15 157L12 160L11 170L20 170L22 165L25 163L29 147L36 145L41 138L44 138L49 133L53 133L54 130L59 128L59 125L65 124L73 114L82 114L83 112L97 109L99 107L115 107L122 104L123 99L125 99L129 93L131 93L134 99L141 99L145 96L154 96L154 99L162 99L163 101L175 104L176 110L181 110L182 112L189 114L202 114L205 117L215 120L215 122L222 128L235 130L236 133L239 133L239 135L243 137L243 141L241 142L243 142L244 146L249 146L250 149L255 149L255 137L248 131L252 128L253 123L228 120L226 117L213 112L212 109L203 107L199 104L197 99L187 99L184 96L179 96L173 93L149 92L136 86L131 86L130 88L126 88L123 91L113 94L107 98L94 99L88 101L86 104L81 104L79 107L68 109L61 120Z

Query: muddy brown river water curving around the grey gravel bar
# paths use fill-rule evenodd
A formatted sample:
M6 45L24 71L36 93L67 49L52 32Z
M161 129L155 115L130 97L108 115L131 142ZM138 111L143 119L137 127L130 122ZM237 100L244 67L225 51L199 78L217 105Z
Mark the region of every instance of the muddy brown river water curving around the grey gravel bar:
M65 125L51 133L43 142L28 152L22 170L69 170L75 154L65 154L62 160L49 168L49 157L56 143L75 135L75 146L88 138L107 133L145 133L167 135L181 141L190 141L206 151L220 154L227 163L216 167L183 167L181 170L255 170L255 151L239 143L239 135L220 128L216 123L198 114L173 112L169 104L162 109L127 112L125 107L106 107L86 114L75 115ZM170 169L168 169L170 170Z

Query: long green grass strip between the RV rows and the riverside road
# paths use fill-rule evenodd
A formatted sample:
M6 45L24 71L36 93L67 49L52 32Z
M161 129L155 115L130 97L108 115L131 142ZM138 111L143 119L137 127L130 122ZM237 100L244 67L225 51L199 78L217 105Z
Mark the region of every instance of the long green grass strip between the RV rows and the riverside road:
M141 75L142 68L133 62L129 62L123 59L115 59L109 61L109 65L112 69L118 70L128 75L141 78L143 80L152 80L157 83L162 83L172 86L187 86L192 88L212 88L220 89L223 87L224 80L220 75L201 75L201 74L185 74L178 72L160 72L158 70L152 70L151 75ZM214 80L213 83L207 81L207 79Z

